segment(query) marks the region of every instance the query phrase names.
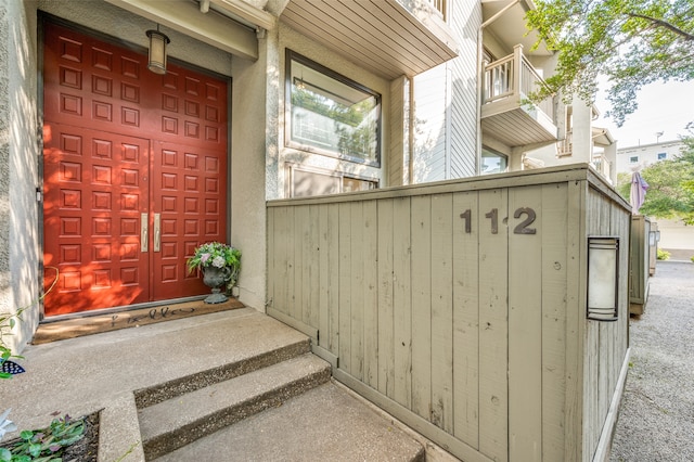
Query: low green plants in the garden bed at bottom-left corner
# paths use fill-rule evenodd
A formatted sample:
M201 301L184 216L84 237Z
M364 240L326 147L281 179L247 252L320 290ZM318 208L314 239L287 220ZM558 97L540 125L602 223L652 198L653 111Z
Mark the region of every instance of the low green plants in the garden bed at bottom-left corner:
M2 462L60 462L64 449L85 436L82 419L72 420L69 415L54 419L41 429L25 429L20 439L9 447L0 448Z

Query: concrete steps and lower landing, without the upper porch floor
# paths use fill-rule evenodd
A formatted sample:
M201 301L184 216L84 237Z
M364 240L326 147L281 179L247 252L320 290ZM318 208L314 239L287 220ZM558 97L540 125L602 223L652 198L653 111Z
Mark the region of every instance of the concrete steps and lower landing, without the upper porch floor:
M308 338L137 389L134 401L147 461L424 461L422 445L331 382Z

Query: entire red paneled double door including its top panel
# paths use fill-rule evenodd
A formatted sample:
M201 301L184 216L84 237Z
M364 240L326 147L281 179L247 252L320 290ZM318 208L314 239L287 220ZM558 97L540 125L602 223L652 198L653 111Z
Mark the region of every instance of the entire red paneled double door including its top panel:
M208 292L196 245L226 241L228 81L47 24L47 316Z

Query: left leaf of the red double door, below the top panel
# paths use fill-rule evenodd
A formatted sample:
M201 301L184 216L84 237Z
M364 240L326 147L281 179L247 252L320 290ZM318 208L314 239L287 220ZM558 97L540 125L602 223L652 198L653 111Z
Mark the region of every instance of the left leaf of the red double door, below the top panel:
M60 270L46 315L146 301L149 141L48 124L43 145L43 258Z

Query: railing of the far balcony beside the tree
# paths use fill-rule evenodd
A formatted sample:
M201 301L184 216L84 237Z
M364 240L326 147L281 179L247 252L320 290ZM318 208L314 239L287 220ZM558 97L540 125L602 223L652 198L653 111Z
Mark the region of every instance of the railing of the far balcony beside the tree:
M515 98L518 104L525 104L527 97L543 85L542 77L523 55L523 46L517 44L513 54L485 66L485 104L507 98ZM551 97L535 105L554 120L554 102Z

